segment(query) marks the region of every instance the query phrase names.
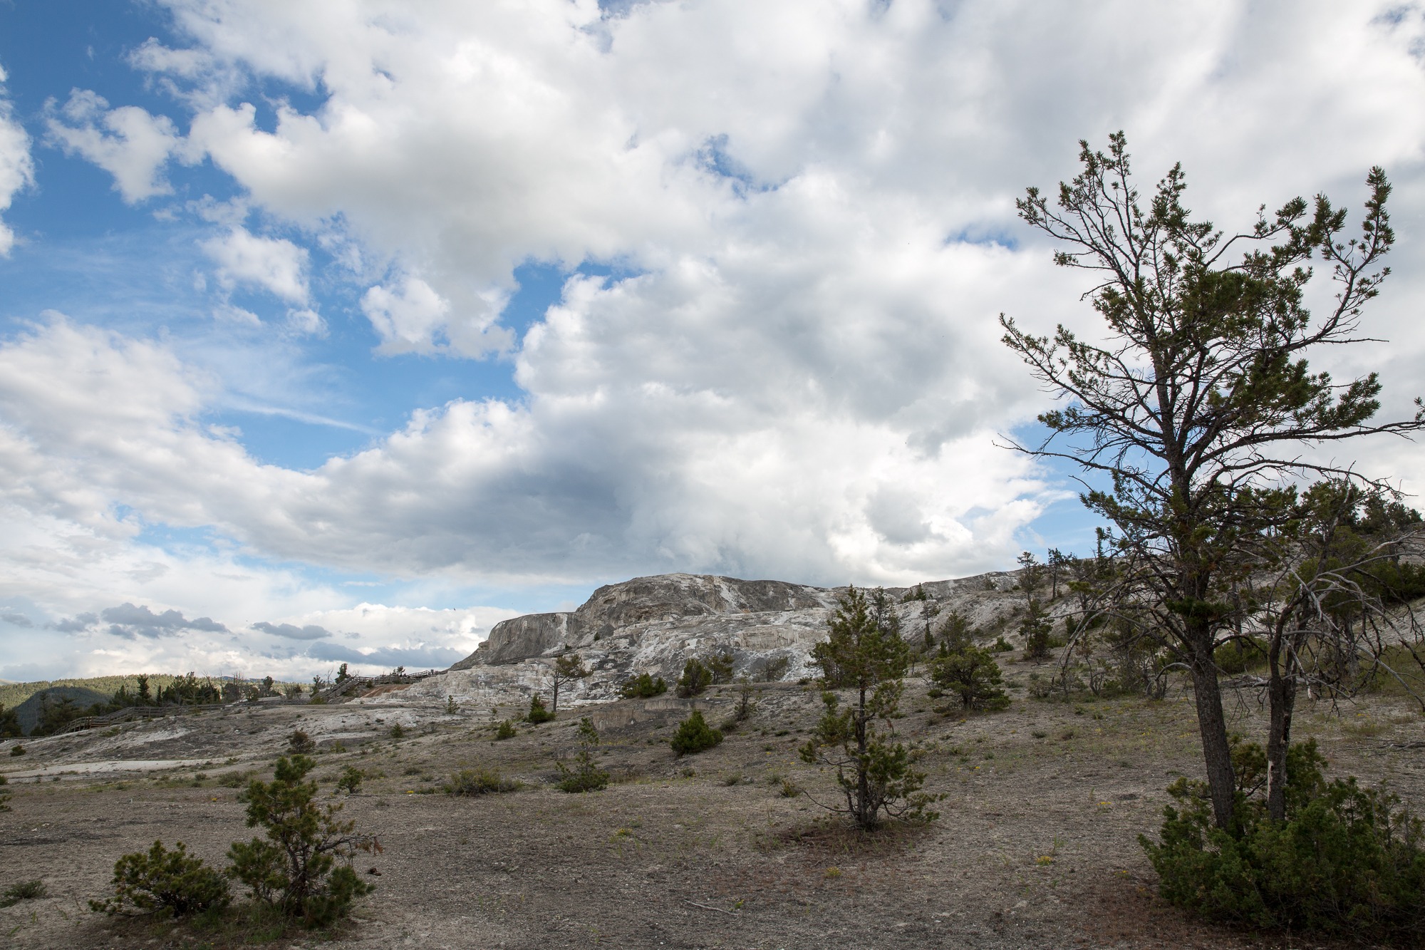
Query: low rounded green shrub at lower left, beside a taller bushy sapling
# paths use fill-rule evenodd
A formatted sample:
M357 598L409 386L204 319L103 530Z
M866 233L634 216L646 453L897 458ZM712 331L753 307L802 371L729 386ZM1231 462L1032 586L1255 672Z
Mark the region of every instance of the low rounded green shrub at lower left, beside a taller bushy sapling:
M227 907L231 900L227 879L201 857L190 857L182 842L171 852L154 842L147 854L124 854L114 863L113 886L114 894L88 902L90 910L185 917Z

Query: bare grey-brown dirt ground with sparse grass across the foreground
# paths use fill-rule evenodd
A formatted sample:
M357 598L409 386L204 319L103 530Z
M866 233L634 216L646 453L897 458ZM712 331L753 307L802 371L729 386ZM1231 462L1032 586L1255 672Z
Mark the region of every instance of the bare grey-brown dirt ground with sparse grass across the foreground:
M1023 693L1015 693L1023 696ZM731 692L700 700L710 722ZM1198 924L1154 894L1137 836L1156 833L1177 775L1198 775L1188 698L1052 703L942 716L908 683L898 732L926 747L940 819L869 839L819 822L784 779L829 799L831 777L797 756L819 713L812 688L777 685L721 746L677 759L667 739L688 703L658 698L563 710L493 742L489 710L380 702L278 706L26 740L7 756L13 810L0 813L0 890L40 877L48 897L0 910L13 947L202 947L212 934L114 923L87 910L114 860L155 839L222 864L252 834L241 773L271 775L294 729L318 740L331 789L348 765L368 773L341 796L383 852L336 934L274 946L339 947L1310 947ZM1304 703L1298 739L1317 736L1332 775L1385 780L1425 806L1425 719L1377 698L1332 713ZM504 715L507 715L506 710ZM1254 700L1237 727L1260 733ZM616 782L564 795L550 786L593 715ZM405 737L392 739L402 725ZM526 783L483 797L439 793L463 767ZM228 785L225 785L225 782ZM219 941L221 946L221 941Z

